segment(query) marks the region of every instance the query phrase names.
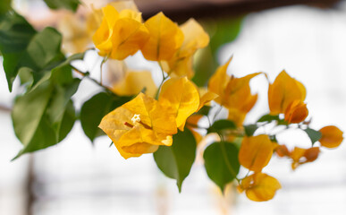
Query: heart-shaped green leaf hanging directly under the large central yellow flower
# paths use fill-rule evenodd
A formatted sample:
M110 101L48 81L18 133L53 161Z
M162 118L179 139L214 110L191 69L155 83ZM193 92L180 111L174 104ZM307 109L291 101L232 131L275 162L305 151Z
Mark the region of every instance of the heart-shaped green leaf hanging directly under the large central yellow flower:
M165 174L177 180L179 192L183 180L189 176L196 157L196 140L189 129L173 135L173 145L160 146L154 153L157 167Z

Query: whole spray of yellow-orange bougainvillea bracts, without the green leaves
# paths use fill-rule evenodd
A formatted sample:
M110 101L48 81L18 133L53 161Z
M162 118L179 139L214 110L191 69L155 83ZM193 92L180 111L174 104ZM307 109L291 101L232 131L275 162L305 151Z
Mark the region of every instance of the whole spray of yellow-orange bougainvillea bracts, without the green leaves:
M115 108L99 125L112 139L123 158L153 153L160 145L171 146L174 144L173 135L178 130L190 129L196 140L201 140L200 134L194 130L199 127L198 120L202 117L198 110L209 106L212 100L219 107L228 110L227 120L236 126L229 129L233 131L231 133L216 131L222 142L241 138L239 163L252 174L236 179L239 190L245 191L249 199L270 200L281 187L273 176L262 172L274 154L292 159L292 168L317 158L319 147L296 147L290 151L285 145L280 145L274 135L245 132L245 116L257 102L257 95L251 94L249 82L261 73L241 78L230 76L226 71L231 58L215 71L207 90L199 90L190 81L194 75L193 56L209 42L207 33L195 20L190 19L178 26L165 17L164 13L157 13L142 22L141 13L133 4L129 7L119 2L108 4L96 13L102 17L93 37L100 56L123 60L141 51L147 60L156 61L163 73L163 81L156 89L156 97L155 93L142 93L139 92L140 89L131 91L138 94L137 97ZM127 89L126 84L130 83L122 82L114 91ZM274 123L286 128L298 125L300 129L309 129L309 123L304 121L308 116L305 98L305 87L283 71L269 84L270 115L259 120L256 126ZM212 126L213 122L209 120L209 123ZM342 131L335 126L326 126L315 133L320 135L316 141L327 148L337 147L343 139Z

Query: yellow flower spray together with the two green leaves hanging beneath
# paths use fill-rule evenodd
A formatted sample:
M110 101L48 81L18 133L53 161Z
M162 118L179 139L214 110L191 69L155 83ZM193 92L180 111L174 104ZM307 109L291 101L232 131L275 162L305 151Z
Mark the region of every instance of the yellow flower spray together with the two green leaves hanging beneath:
M219 136L202 149L205 150L207 175L221 189L235 179L240 192L245 191L250 200L260 202L272 199L276 190L281 188L277 179L263 172L274 155L291 159L295 169L317 159L320 151L320 147L314 145L317 141L326 148L341 144L342 131L337 127L326 126L319 131L310 128L309 121L306 121L306 89L285 71L269 83L269 114L260 117L253 125L243 125L257 102L257 94L251 93L249 82L265 73L252 73L240 78L229 75L227 68L231 58L218 67L209 79L207 89L198 89L191 81L193 56L199 48L207 47L209 37L195 20L190 19L178 26L164 13L157 13L143 22L141 13L133 4L124 6L119 3L108 4L96 13L102 22L93 41L100 56L123 60L140 51L147 60L156 61L163 74L158 89L149 72L129 73L112 89L118 95L137 94L104 116L99 125L123 158L155 152L157 166L166 176L181 183L190 172L192 164L189 166L187 163L190 159L193 163L196 150L196 144L191 145L185 140L190 140L191 133L193 142L203 142L204 137L199 131L205 129L207 133ZM142 88L147 90L140 92ZM213 111L209 110L214 107L217 110L214 117L210 117ZM221 109L226 109L228 116L215 121ZM208 127L198 123L202 117L207 117ZM291 127L301 129L310 137L312 147L289 150L277 142L277 133L258 129L268 125L283 127L283 130ZM190 146L192 157L188 158ZM167 152L169 148L165 147L172 150ZM198 147L205 145L199 144ZM173 167L171 157L165 153L173 153L171 157L174 157L176 166ZM249 169L243 178L238 177L241 166Z

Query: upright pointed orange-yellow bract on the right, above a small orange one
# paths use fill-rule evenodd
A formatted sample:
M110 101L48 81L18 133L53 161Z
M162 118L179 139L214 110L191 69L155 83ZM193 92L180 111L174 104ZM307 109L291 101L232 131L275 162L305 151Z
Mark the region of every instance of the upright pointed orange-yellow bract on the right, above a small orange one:
M283 114L291 102L303 102L306 94L304 85L283 70L275 81L269 84L268 102L271 115Z

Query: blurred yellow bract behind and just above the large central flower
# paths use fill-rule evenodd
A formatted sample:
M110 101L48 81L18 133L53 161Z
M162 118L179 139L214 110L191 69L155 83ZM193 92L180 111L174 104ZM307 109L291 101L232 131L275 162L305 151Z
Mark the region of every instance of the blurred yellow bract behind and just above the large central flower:
M115 82L112 90L120 96L131 96L146 89L145 94L154 97L156 94L156 84L149 71L132 72L129 71L120 82Z

